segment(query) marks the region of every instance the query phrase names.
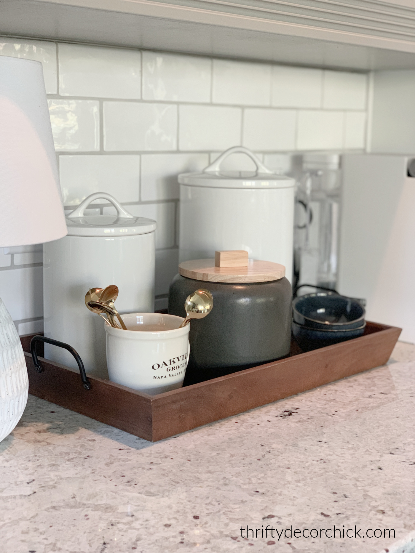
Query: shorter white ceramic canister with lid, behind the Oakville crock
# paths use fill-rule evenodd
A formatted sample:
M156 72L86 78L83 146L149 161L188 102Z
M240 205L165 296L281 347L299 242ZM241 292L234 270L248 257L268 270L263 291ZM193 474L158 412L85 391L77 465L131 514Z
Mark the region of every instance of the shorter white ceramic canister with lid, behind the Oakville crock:
M94 200L105 199L117 215L84 215ZM68 236L43 245L45 336L69 343L88 374L108 378L105 322L85 305L95 286L119 289L120 313L154 311L155 221L134 217L105 192L87 197L66 217ZM45 357L77 369L65 349L45 343Z

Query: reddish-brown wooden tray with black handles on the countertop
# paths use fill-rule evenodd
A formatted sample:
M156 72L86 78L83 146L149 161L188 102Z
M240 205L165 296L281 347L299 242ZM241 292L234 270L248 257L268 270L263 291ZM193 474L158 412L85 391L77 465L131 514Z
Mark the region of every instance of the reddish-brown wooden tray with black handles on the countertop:
M85 390L75 369L39 357L37 373L25 353L29 393L155 442L383 365L400 333L367 321L360 338L307 353L293 341L285 359L153 396L94 377ZM21 338L25 352L30 338Z

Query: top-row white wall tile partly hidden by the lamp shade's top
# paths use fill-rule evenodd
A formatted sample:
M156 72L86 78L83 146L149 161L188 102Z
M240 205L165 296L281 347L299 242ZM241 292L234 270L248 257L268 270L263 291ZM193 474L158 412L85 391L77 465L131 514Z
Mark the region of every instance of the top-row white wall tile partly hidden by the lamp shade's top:
M0 38L0 55L40 61L47 94L58 92L56 74L56 44L43 40Z

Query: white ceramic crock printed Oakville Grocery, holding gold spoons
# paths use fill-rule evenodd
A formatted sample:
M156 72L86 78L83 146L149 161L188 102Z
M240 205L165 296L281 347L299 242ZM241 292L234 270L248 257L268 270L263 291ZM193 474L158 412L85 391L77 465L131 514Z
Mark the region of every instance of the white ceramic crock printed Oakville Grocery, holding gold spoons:
M150 395L181 388L189 359L190 324L161 313L123 315L128 330L105 324L108 375L112 382ZM140 331L143 325L160 331ZM165 330L167 329L167 330Z

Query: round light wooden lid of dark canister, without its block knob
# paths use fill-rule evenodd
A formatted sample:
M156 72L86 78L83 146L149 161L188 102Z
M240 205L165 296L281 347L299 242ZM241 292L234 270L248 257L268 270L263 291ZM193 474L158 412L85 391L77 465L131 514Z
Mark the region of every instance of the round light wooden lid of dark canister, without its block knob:
M250 259L246 267L215 267L215 259L194 259L179 264L181 276L206 282L259 283L279 280L286 268L271 261Z

